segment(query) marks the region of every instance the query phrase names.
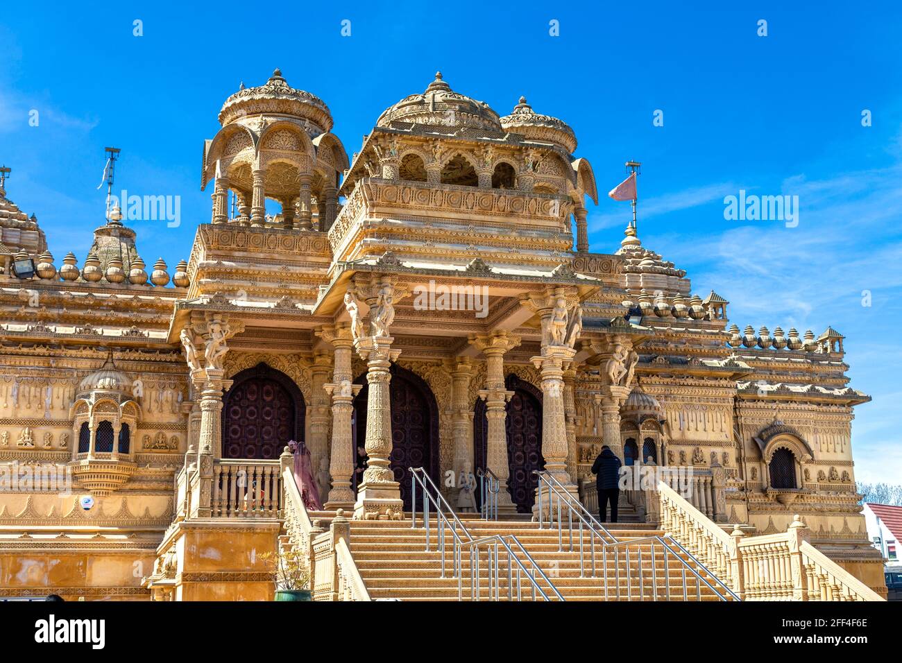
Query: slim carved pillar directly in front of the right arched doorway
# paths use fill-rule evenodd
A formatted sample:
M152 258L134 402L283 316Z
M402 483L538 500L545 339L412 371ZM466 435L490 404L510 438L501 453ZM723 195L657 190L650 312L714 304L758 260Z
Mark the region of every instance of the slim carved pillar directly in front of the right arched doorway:
M504 388L504 354L520 345L520 336L515 336L501 329L492 334L474 336L470 343L485 355L485 389L479 391L480 398L485 401L485 418L488 426L485 440L485 465L498 477L501 484L498 491L498 510L516 511L511 500L508 482L511 478L511 465L507 449L507 403L513 391Z

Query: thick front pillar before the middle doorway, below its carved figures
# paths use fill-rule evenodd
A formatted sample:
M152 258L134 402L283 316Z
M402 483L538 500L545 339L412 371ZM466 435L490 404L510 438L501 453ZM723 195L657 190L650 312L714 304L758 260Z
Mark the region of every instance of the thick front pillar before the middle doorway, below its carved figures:
M391 336L362 336L354 342L357 353L366 362L366 440L364 449L369 460L364 470L364 483L357 487L354 518L374 518L403 511L400 485L391 471L391 362L400 355L392 350Z

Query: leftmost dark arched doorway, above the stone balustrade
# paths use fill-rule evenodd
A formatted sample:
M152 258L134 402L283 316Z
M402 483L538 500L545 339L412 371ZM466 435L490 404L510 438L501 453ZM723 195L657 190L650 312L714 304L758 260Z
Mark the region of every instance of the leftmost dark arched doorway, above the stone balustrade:
M304 397L288 375L257 364L233 381L223 397L223 458L272 460L304 438Z

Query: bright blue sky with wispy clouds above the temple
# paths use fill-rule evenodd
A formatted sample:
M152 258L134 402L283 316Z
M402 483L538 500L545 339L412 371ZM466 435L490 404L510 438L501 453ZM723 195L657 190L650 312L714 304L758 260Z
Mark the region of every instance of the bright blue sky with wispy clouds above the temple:
M280 67L327 102L354 152L386 106L441 69L501 115L525 95L565 119L603 192L624 161L642 161L643 243L686 269L695 291L729 299L740 327L817 334L829 324L846 335L852 385L874 397L856 410L856 474L899 483L897 3L161 5L9 3L0 13L0 162L14 169L9 198L37 214L58 264L69 251L80 264L104 221L107 145L123 151L116 189L181 197L179 227L133 224L145 262L161 255L171 268L209 221L202 141L240 81L261 85ZM797 195L798 226L724 220L723 197L739 189ZM629 216L609 198L592 207L593 250L615 251Z

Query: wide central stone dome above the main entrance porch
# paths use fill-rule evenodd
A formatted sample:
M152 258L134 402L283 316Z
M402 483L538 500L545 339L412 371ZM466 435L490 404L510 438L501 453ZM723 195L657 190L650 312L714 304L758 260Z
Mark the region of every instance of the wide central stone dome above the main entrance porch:
M451 89L442 72L422 94L410 95L389 106L376 126L390 127L392 122L410 122L428 126L465 127L502 132L498 114L484 101L476 101Z

